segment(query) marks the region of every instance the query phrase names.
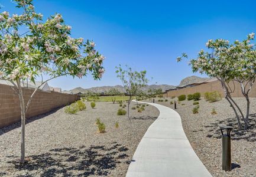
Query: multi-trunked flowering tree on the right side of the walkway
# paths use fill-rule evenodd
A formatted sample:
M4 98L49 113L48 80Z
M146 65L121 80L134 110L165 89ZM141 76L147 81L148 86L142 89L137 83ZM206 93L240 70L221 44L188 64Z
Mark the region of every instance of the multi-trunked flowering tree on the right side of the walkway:
M241 114L244 121L244 129L248 128L249 124L249 92L255 82L256 77L256 50L255 44L251 44L250 40L254 40L254 33L249 34L247 39L239 42L236 40L234 44L229 44L227 40L209 40L206 46L210 52L201 50L196 59L190 60L192 70L194 72L205 73L209 77L216 77L221 81L222 88L225 92L225 98L231 104L232 109L236 114L238 127L241 129L238 112ZM186 54L182 57L187 58ZM180 61L182 57L178 57ZM238 81L241 86L242 94L247 100L246 115L242 113L240 107L231 97L234 89L231 89L229 84Z

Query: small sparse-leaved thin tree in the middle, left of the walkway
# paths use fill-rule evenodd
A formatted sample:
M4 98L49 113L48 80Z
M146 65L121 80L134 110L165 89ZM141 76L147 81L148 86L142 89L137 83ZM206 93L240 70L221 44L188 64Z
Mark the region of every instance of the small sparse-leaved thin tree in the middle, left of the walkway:
M133 71L131 67L126 65L123 69L121 65L116 67L117 77L122 81L126 94L128 95L128 118L129 118L129 104L132 101L132 97L137 96L142 87L145 87L148 83L146 78L147 71Z

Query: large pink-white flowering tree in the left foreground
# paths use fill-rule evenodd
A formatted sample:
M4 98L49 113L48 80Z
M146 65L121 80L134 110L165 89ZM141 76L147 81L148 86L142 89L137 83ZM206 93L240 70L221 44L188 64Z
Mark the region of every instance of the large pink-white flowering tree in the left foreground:
M88 72L102 77L103 55L95 51L95 43L70 37L71 27L60 14L43 21L34 10L32 0L15 0L21 15L0 14L0 79L9 81L18 94L21 107L21 163L25 158L25 114L38 89L60 76L82 78ZM27 31L24 31L27 30ZM43 80L47 76L47 80ZM30 98L25 101L24 81L41 79Z

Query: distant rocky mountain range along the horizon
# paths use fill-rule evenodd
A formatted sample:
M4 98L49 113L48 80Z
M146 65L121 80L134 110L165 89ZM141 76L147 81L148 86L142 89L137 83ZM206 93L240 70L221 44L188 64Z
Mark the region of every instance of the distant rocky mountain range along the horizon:
M192 84L192 83L197 83L199 81L205 81L208 80L209 78L205 78L205 77L197 77L197 76L189 76L186 78L183 78L182 81L180 81L179 86L186 86L188 84ZM174 89L177 86L172 86L172 85L168 85L168 84L160 84L160 85L147 85L146 87L144 87L143 91L148 91L149 89L162 89L163 91L168 90L168 89ZM72 90L64 90L62 91L63 93L72 93L72 94L76 94L76 93L86 93L87 91L93 91L96 93L105 93L105 91L108 91L110 89L117 89L119 90L121 93L124 93L124 87L123 86L102 86L102 87L92 87L89 89L83 89L82 87L77 87L74 88Z

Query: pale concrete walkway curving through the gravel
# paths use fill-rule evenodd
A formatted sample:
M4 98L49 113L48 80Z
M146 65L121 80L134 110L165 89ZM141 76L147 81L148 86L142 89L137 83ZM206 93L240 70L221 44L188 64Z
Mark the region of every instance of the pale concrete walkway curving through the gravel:
M160 115L142 137L126 176L212 176L190 146L180 115L166 106L147 104L157 107Z

